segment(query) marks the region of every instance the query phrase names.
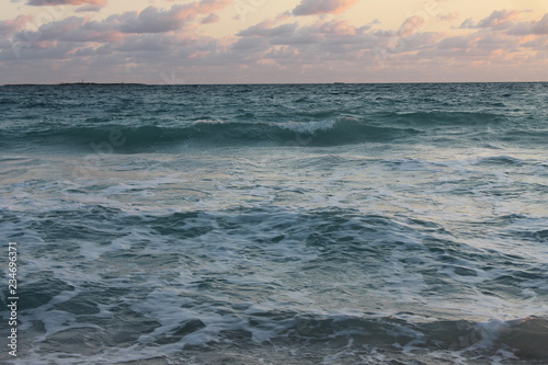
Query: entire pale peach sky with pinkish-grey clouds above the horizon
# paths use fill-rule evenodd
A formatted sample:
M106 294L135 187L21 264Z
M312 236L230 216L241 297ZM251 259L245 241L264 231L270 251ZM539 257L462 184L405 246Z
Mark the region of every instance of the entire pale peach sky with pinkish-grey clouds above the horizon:
M0 4L0 84L548 81L547 0Z

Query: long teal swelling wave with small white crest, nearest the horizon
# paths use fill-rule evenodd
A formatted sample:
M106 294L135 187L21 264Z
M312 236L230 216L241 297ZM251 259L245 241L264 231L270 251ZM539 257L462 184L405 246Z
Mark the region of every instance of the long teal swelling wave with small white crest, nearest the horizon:
M115 130L124 139L119 149L157 145L197 146L341 146L359 142L388 142L418 134L412 128L380 126L350 117L317 122L241 123L196 121L184 126L85 126L56 130L35 130L20 138L39 144L82 146L109 140ZM88 146L85 146L88 147ZM119 150L118 149L118 150Z

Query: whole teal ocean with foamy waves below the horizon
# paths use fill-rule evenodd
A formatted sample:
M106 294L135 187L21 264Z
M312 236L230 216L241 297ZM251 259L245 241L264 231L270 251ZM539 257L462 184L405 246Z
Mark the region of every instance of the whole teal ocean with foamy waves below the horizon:
M0 111L2 364L548 362L548 83L3 85Z

